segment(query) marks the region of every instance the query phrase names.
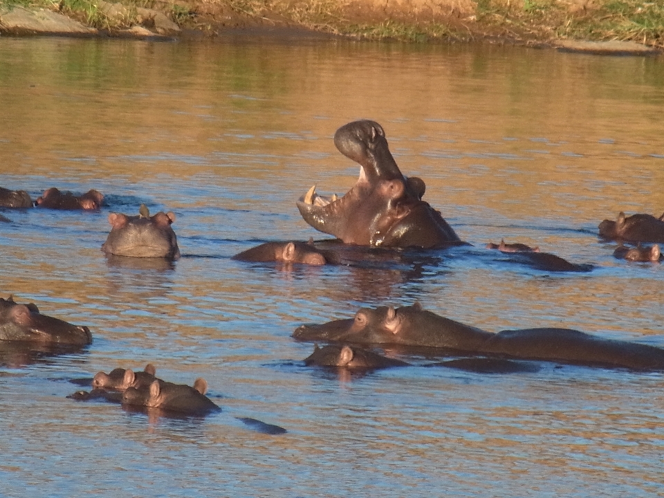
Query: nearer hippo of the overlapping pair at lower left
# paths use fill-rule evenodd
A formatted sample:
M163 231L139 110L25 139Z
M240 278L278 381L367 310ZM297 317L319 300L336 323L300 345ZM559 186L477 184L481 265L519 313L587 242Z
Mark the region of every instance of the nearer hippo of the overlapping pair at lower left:
M221 412L221 408L205 396L208 382L203 378L194 381L194 387L153 380L147 388L129 387L122 394L122 405L157 408L185 416L205 416Z

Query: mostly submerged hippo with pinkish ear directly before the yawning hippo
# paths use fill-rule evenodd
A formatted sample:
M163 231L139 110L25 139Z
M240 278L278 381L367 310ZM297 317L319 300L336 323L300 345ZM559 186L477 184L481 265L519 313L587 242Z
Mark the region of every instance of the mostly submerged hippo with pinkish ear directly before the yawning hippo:
M317 249L313 241L305 242L267 242L255 248L234 255L232 259L266 263L279 261L286 264L324 265L335 263L338 258L333 252Z

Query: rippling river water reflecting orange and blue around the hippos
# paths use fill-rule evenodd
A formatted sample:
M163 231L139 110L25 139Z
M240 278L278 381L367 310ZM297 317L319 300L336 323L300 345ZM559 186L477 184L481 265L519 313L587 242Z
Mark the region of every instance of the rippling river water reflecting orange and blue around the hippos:
M299 324L421 302L489 331L566 326L664 347L664 268L597 225L664 210L663 59L317 39L0 39L0 185L106 194L100 212L4 211L3 297L87 325L84 351L0 363L7 497L634 496L664 493L662 373L491 375L304 367ZM295 200L342 194L338 127L385 128L404 174L473 244L416 267L230 259L324 239ZM175 264L118 263L109 212L173 211ZM487 264L519 241L591 273ZM174 420L66 398L114 367L192 384L223 412ZM280 425L252 430L237 417Z

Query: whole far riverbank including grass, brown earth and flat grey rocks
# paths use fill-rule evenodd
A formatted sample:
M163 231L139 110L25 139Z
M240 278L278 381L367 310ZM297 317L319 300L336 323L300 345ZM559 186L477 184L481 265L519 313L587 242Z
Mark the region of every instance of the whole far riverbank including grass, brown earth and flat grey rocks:
M17 12L37 21L12 24ZM664 4L659 1L0 0L0 30L6 34L58 33L42 26L53 15L80 24L79 35L215 37L235 30L296 30L402 42L624 41L664 49Z

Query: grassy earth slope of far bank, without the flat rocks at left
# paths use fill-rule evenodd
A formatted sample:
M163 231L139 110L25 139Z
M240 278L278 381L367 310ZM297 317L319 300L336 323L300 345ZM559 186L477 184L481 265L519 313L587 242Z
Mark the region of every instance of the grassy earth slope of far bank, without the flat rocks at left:
M59 10L102 29L136 22L132 8L156 8L183 28L214 35L224 28L284 26L364 39L405 42L504 39L631 40L664 47L664 2L637 0L449 0L437 10L375 8L347 0L122 0L128 12L111 17L101 0L0 0L0 5ZM387 5L387 4L386 4ZM461 7L459 7L461 5Z

